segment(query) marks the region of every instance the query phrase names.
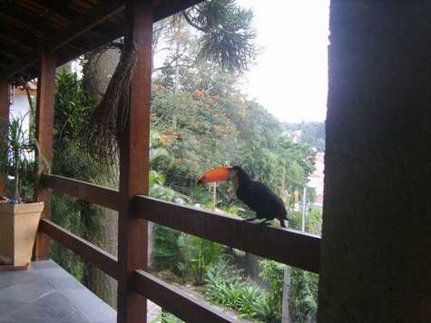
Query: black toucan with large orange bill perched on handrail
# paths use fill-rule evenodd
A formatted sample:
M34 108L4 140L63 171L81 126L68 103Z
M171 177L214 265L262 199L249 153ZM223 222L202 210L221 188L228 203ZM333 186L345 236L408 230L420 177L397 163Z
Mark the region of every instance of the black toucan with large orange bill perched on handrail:
M232 182L235 195L256 212L255 218L247 220L265 219L261 223L266 223L277 219L281 227L286 228L284 220L288 218L284 202L265 184L252 181L249 174L240 166L223 166L206 171L198 180L198 184L214 181Z

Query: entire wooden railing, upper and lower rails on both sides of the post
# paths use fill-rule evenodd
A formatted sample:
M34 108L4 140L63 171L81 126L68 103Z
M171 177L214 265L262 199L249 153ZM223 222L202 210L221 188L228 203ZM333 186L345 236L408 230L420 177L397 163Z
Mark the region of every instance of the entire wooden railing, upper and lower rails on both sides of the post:
M74 198L113 210L119 209L118 191L51 174L44 175L42 183L46 188ZM219 213L184 207L145 196L134 198L132 216L318 273L320 239L316 236L257 225ZM117 279L120 263L106 251L58 227L50 220L42 220L39 229ZM139 252L139 250L133 250L133 252ZM210 305L191 299L180 289L143 270L134 270L132 288L188 322L231 320Z

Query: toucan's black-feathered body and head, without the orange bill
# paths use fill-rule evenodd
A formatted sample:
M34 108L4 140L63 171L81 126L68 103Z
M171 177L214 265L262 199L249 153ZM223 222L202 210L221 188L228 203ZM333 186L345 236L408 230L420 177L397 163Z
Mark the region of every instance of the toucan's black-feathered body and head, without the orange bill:
M286 227L284 220L287 220L287 212L284 202L269 189L268 186L259 182L252 181L249 174L240 166L233 166L230 181L233 182L233 190L237 197L246 204L251 210L256 212L256 218L248 219L277 219L281 227Z

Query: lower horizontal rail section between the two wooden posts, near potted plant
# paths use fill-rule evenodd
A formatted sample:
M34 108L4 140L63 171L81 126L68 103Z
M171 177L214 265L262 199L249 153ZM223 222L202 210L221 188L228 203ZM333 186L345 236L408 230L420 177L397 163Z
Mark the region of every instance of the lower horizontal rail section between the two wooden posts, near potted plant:
M88 262L91 262L98 269L102 269L113 279L118 279L118 261L110 253L94 246L87 240L75 236L68 230L64 230L50 220L41 220L39 230L44 231L44 233L64 245L64 247L73 250L73 252Z

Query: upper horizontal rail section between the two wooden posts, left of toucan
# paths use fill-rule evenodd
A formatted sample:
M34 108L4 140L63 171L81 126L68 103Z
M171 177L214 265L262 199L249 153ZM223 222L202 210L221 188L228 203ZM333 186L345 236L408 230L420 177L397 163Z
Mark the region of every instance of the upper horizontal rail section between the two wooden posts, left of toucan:
M44 187L74 198L99 204L112 210L120 210L120 194L117 190L52 174L45 174L42 184Z

